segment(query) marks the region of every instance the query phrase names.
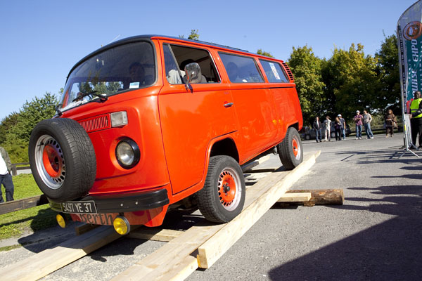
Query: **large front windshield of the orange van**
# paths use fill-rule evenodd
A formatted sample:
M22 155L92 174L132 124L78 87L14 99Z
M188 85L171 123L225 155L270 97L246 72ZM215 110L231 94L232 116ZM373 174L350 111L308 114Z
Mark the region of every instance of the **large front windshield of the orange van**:
M96 53L69 74L58 108L68 110L122 91L151 86L155 82L153 46L136 42Z

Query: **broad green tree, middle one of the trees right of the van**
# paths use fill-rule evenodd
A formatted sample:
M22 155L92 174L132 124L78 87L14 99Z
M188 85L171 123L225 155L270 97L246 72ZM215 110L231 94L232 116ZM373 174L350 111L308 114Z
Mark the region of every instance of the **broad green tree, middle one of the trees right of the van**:
M376 60L364 54L364 46L352 44L348 51L335 48L322 71L326 84L326 107L329 115L342 113L347 119L356 110L378 110L376 96L380 82Z

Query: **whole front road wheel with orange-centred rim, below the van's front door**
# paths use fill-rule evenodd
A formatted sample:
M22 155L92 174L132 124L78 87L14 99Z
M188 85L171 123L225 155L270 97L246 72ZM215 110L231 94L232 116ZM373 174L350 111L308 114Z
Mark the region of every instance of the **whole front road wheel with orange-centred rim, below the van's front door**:
M226 223L241 213L245 204L245 178L235 159L210 158L203 189L197 192L198 208L208 221Z

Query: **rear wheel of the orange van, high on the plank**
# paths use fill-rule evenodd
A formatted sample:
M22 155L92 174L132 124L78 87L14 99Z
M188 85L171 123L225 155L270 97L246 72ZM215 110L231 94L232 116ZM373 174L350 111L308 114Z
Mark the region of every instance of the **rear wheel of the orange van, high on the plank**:
M295 166L302 163L302 141L300 141L299 133L295 128L288 128L284 140L278 145L278 150L281 163L287 170L295 169Z

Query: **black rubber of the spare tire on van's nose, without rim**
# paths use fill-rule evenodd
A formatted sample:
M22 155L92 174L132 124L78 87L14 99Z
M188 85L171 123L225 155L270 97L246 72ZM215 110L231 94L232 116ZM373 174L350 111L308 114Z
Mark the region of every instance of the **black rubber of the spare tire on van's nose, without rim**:
M65 180L53 190L39 176L34 150L40 136L49 135L58 141L66 165ZM32 175L44 194L58 202L75 200L87 195L96 177L96 155L87 131L75 120L54 118L42 120L34 127L30 137L29 158Z

